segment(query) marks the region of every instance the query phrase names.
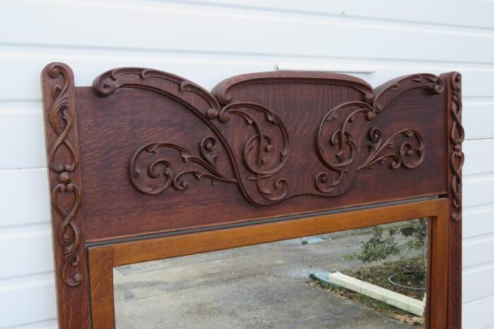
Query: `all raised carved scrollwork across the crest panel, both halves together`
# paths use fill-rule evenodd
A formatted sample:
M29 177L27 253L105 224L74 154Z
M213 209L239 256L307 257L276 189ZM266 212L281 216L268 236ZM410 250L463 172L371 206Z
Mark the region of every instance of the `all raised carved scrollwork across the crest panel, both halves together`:
M426 156L422 133L416 128L387 132L372 126L387 104L409 90L444 90L442 80L431 74L416 74L392 80L385 88L373 91L362 80L339 76L318 80L303 76L269 76L270 83L327 83L346 85L361 93L361 100L338 104L318 119L313 131L313 150L326 168L313 176L313 188L294 191L290 173L283 168L290 158L291 138L282 119L275 112L255 102L235 102L230 95L239 85L264 83L262 79L243 80L219 85L215 95L188 80L169 73L141 68L119 68L95 80L96 92L112 95L119 88L141 88L158 92L183 104L210 128L211 136L202 136L197 151L176 143L151 141L135 150L129 161L131 184L145 194L157 194L170 187L188 188L188 179L209 179L211 183L238 184L253 205L270 205L301 194L339 196L349 189L357 172L390 164L390 169L414 169ZM234 119L237 118L237 119ZM241 146L231 145L232 137L223 126L240 119L248 128ZM236 121L239 124L240 121ZM222 152L218 152L222 150ZM363 155L366 155L365 157ZM217 157L227 157L232 171L219 168ZM172 164L172 160L176 164ZM180 161L177 163L176 160ZM223 171L222 171L223 170ZM251 184L255 186L252 188Z

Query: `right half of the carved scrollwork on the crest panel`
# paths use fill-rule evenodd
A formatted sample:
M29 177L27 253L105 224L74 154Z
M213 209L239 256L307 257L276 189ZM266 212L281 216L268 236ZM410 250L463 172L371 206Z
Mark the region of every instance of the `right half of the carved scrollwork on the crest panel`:
M428 89L439 94L444 91L444 84L438 76L428 73L405 76L392 80L385 88L376 90L375 97L366 99L366 102L339 104L323 116L315 145L320 160L330 169L330 173L319 172L315 176L315 187L318 191L332 195L341 194L349 186L348 181L342 186L345 174L353 175L361 169L372 169L374 164L385 163L388 159L391 160L392 169L414 169L420 166L425 156L425 144L423 136L416 129L404 128L383 138L380 129L370 128L368 139L372 143L369 146L369 155L356 168L354 162L362 148L361 145L357 145L360 142L356 134L368 125L361 122L354 125L358 127L351 131L351 126L356 120L373 121L392 100L414 89ZM402 143L399 144L399 148L390 150L400 141Z

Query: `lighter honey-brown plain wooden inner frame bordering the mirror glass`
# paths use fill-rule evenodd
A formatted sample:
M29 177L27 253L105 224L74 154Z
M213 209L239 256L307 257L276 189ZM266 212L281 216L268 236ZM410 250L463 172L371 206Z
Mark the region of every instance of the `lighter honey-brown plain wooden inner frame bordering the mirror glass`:
M449 261L449 207L449 199L438 198L297 220L92 246L88 249L92 328L115 328L113 268L116 266L401 222L416 217L433 219L430 220L430 310L427 311L432 317L428 328L447 328L448 273L445 269Z

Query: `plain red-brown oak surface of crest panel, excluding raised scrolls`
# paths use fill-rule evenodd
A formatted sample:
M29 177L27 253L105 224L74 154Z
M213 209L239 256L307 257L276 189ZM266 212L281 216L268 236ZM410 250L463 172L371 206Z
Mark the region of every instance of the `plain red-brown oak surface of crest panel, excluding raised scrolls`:
M265 83L256 78L258 74L263 77L275 76L277 79L271 78L268 80L270 83ZM351 124L351 133L355 139L352 143L357 145L359 153L354 163L345 168L349 172L344 174L342 183L336 186L337 189L322 193L315 186L318 174L335 173L332 174L332 179L335 180L337 172L327 169L318 155L315 135L320 120L339 104L363 102L372 98L368 95L370 88L361 82L361 88L365 90L363 93L343 84L347 83L347 76L332 73L303 73L303 78L296 78L302 73L258 74L248 75L254 83L244 82L229 88L228 95L231 97L229 104L260 104L270 109L286 127L289 155L279 172L260 179L261 189L256 186L257 181L253 180L259 175L245 165L248 160L243 157L243 145L253 138L255 129L241 116L231 114L230 121L226 123L219 119L207 119L205 113L210 104L196 97L195 93L191 96L188 95L191 92L173 90L181 97L180 101L176 99L179 96L164 97L162 90L172 90L171 86L155 83L162 90L153 91L150 86L144 85L145 79L142 78L132 80L133 84L129 86L123 84L105 97L98 95L92 88L77 88L83 186L91 191L85 196L85 204L81 209L86 221L86 239L100 241L177 229L210 227L447 193L446 177L443 174L447 167L442 161L447 152L442 146L442 141L446 138L446 121L445 113L437 110L445 107L444 93L437 94L427 88L411 89L399 95L399 101L394 100L387 104L372 121L367 121L363 114L356 116ZM310 80L308 77L311 76L318 78ZM340 76L344 78L339 78ZM333 84L333 80L339 79L344 82ZM142 88L135 87L136 83L141 83L139 87ZM225 83L233 82L227 80L222 85ZM217 97L221 100L226 96ZM189 109L182 99L193 104L198 111ZM251 111L253 112L255 111ZM339 113L338 119L342 121L345 117L347 113ZM258 114L255 119L272 140L273 150L263 154L265 171L268 171L281 163L279 158L282 157L280 153L284 147L283 136L275 125L265 122L263 114ZM330 144L331 135L339 126L340 122L330 122L325 127L324 145ZM380 129L382 140L404 129L418 130L423 136L425 148L423 162L415 169L404 166L392 169L392 159L386 159L384 164L373 164L373 169L357 171L356 165L366 160L370 153L373 140L370 140L368 133L372 127ZM229 155L227 148L220 143L219 134L224 136L233 155ZM215 181L212 185L209 179L198 180L189 175L182 179L188 184L187 189L177 191L170 186L166 191L150 195L136 190L131 181L126 179L131 157L141 146L155 142L171 143L198 155L200 142L207 137L218 140L218 172L227 179L238 180L240 184ZM394 149L399 148L406 139L394 140L397 144ZM382 154L394 149L384 149ZM202 169L200 166L183 167L176 150L159 150L157 153L172 162L175 174L181 166L184 170ZM336 155L330 153L327 152L327 157L337 161ZM349 154L345 156L350 157ZM150 157L147 162L141 162L141 176L144 176L145 166L157 158ZM158 170L164 171L163 168ZM267 190L272 193L273 198L282 193L273 187L279 179L287 179L287 195L278 201L264 198L258 190ZM159 179L155 181L162 183ZM163 217L164 213L166 219Z

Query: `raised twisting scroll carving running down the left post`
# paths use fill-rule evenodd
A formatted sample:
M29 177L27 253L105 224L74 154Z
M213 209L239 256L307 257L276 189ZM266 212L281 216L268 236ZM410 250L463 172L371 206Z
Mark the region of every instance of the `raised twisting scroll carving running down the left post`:
M49 146L48 167L58 175L58 184L52 187L51 199L54 210L62 218L56 234L57 241L64 250L61 280L66 285L75 287L80 285L83 276L78 269L80 230L74 222L74 217L80 208L81 195L71 177L71 173L78 167L78 154L68 140L68 135L73 129L73 109L69 103L71 73L64 66L52 64L47 68L47 74L53 79L60 76L64 79L62 85L56 84L52 88L54 101L49 109L48 121L56 134L56 139Z

